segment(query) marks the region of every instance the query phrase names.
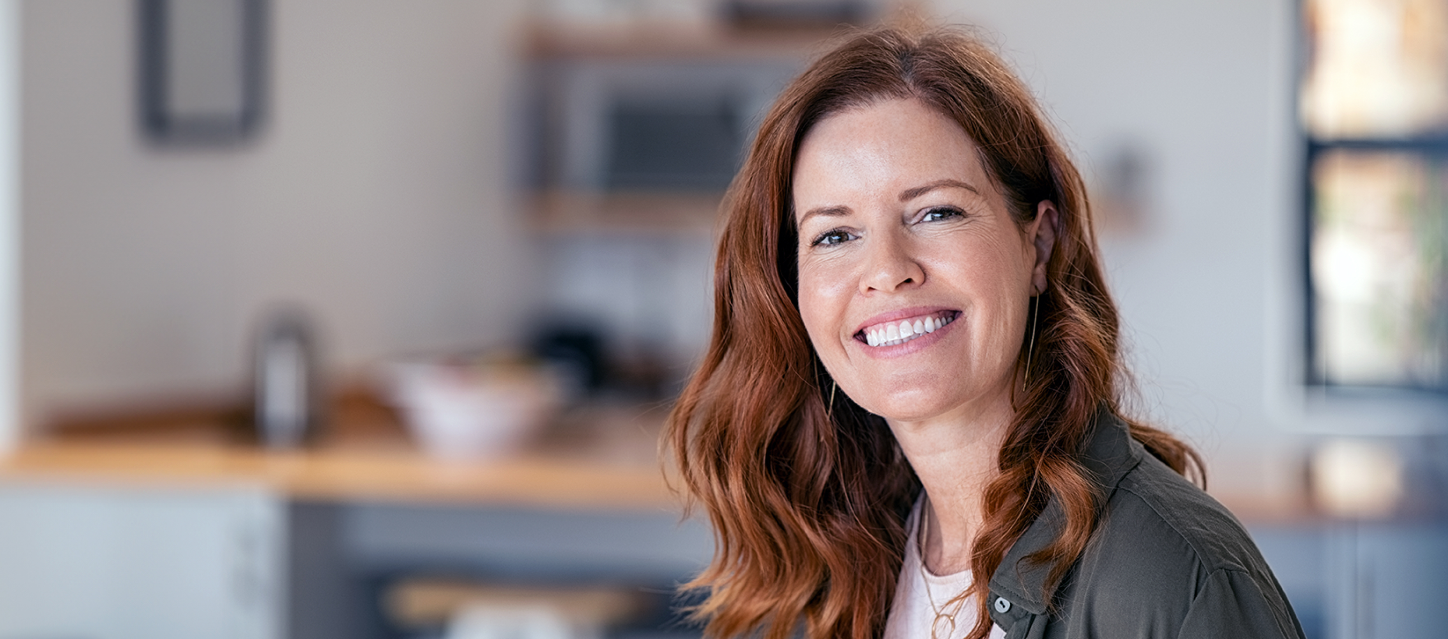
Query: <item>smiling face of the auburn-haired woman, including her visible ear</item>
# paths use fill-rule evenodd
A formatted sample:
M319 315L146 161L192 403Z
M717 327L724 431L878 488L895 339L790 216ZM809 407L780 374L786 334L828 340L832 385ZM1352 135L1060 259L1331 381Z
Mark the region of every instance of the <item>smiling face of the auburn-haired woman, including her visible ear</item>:
M840 390L892 424L1009 408L1050 202L1018 227L975 142L917 100L817 123L792 197L799 314Z

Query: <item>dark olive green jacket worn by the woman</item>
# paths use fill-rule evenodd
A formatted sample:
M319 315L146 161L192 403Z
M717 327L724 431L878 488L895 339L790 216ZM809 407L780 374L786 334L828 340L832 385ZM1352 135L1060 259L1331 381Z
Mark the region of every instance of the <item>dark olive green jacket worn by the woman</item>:
M1085 463L1105 487L1092 541L1061 583L1024 561L1056 536L1053 500L990 577L1006 639L1297 638L1302 627L1242 525L1102 412ZM1056 606L1048 607L1047 601Z

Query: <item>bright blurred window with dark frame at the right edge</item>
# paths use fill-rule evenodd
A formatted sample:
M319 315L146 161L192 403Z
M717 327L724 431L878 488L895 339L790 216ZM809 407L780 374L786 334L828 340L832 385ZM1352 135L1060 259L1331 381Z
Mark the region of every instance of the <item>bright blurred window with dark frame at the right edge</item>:
M1308 382L1448 392L1448 0L1303 0Z

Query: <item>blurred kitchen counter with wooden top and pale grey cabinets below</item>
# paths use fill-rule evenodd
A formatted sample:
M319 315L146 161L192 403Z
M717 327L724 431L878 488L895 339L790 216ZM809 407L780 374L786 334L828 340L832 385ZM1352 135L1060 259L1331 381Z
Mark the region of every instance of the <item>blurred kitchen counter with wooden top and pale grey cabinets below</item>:
M0 458L0 639L416 636L382 610L413 575L662 601L712 551L659 470L662 415L588 413L469 461L356 413L303 450L158 418Z

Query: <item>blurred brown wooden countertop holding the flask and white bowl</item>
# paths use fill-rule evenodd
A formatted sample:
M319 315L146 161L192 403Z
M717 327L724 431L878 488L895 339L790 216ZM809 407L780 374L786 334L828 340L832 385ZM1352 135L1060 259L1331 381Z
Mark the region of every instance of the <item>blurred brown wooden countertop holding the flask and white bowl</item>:
M420 451L388 409L343 399L333 428L275 451L235 413L172 411L83 419L0 458L0 480L104 486L258 486L298 499L678 510L657 461L666 408L594 406L565 415L514 454L443 460Z

